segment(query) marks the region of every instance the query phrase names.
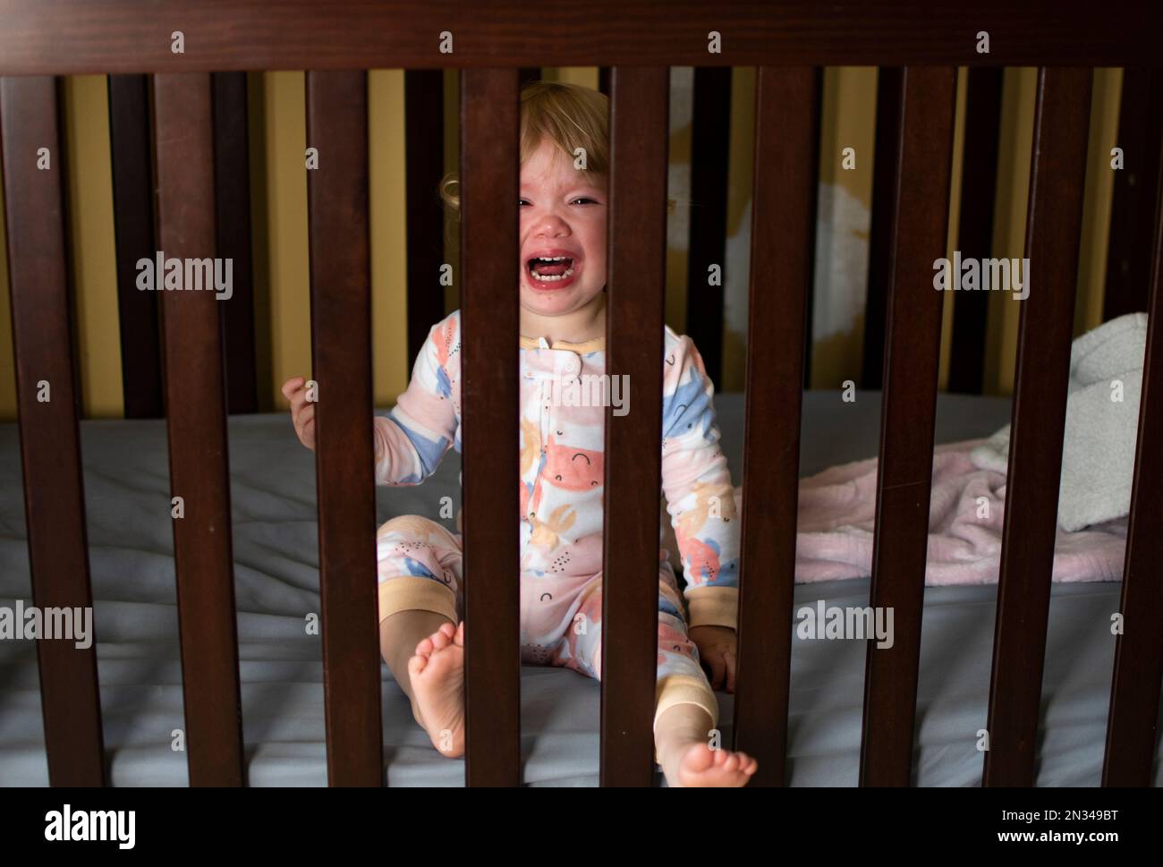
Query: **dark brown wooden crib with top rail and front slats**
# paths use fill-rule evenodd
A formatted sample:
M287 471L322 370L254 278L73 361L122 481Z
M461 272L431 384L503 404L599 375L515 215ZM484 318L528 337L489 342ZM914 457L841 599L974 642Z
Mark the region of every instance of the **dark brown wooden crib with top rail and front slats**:
M635 382L635 404L625 417L607 414L604 649L618 652L604 653L600 779L605 786L649 784L658 564L657 528L649 519L658 511L661 468L657 460L641 456L657 455L661 440L669 67L758 66L734 748L758 759L754 784L782 784L815 207L816 73L826 65L883 66L883 141L891 158L884 161L887 196L878 204L879 251L873 253L884 263L886 291L883 319L873 319L877 328L883 321L883 344L872 346L876 353L883 346L884 404L870 604L896 609L897 638L891 649L869 642L861 782L907 786L943 303L933 290L933 263L946 253L956 67L1036 65L1025 255L1037 269L1039 283L1021 310L984 772L987 786L1030 784L1092 70L1157 65L1158 30L1148 19L1146 8L1111 14L1100 3L1042 0L846 0L822 6L728 0L664 7L647 0L592 0L536 10L512 0L158 0L144 7L133 0L0 0L5 201L35 604L92 604L53 76L152 76L156 249L202 258L228 255L226 249L247 230L247 218L238 222L240 208L245 214L244 193L242 201L223 207L224 199L237 196L231 192L237 185L227 183L215 152L216 142L230 135L221 121L215 135L215 112L231 98L231 78L212 73L308 70L308 143L320 155L317 170L307 175L313 378L321 395L316 467L328 779L333 786L381 783L380 654L371 581L376 516L369 471L364 71L458 67L464 556L472 574L466 585L466 782L516 784L520 656L513 576L519 574L519 550L513 516L519 502L516 486L497 490L488 479L518 475L513 251L519 73L542 64L606 66L613 152L607 371ZM989 34L987 54L979 52L983 33ZM409 100L414 95L409 91ZM148 140L120 144L115 165L133 158L126 154L148 158ZM138 150L131 151L134 147ZM42 148L53 156L47 170L37 169ZM423 158L419 150L416 159ZM119 199L119 256L123 239L134 233L144 247L155 244L148 184L147 173L136 202ZM1158 189L1148 192L1160 199ZM424 207L409 206L416 232L433 225ZM1157 566L1163 562L1163 397L1155 393L1163 388L1163 339L1156 328L1163 267L1158 207L1151 208L1150 332L1122 585L1126 633L1115 653L1105 784L1148 783L1163 675ZM235 220L235 228L223 230L224 220ZM419 227L422 220L428 229ZM438 260L418 255L415 267L434 262ZM143 347L135 351L148 360L150 326L147 319L133 319L141 305L128 306L131 294L124 293L123 331L135 334ZM172 491L185 502L186 517L174 521L174 550L190 782L241 786L245 770L226 415L247 406L235 384L248 372L251 388L254 383L252 349L249 371L244 361L252 322L234 312L249 297L236 294L243 300L230 307L220 306L211 292L160 294L164 370L157 377L148 363L134 365L142 378L135 393L149 406L147 381L152 376L154 404L159 406L164 395ZM422 337L440 318L419 293L415 301L409 305L413 355L415 335ZM222 317L234 320L224 331ZM140 340L134 328L141 329ZM228 355L227 344L237 354ZM980 349L970 351L979 357ZM231 368L229 406L224 367ZM37 399L42 381L51 384L48 403ZM500 460L504 455L508 457ZM69 642L40 641L38 659L51 783L105 784L95 646L79 651Z

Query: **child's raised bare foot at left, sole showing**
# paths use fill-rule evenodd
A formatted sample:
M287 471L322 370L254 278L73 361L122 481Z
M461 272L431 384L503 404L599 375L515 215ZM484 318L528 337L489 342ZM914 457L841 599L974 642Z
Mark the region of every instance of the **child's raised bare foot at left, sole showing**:
M464 755L464 621L443 624L408 660L412 708L433 746L450 759Z

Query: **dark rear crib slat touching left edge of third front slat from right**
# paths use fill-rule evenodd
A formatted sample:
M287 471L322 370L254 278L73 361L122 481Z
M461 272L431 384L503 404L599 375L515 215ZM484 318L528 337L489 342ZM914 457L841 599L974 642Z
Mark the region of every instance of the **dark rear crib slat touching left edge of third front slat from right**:
M900 185L901 88L904 70L885 66L877 73L876 144L872 165L872 223L869 229L869 272L864 300L864 349L861 388L876 390L884 374L885 317L896 243L897 189ZM832 383L833 388L840 383Z

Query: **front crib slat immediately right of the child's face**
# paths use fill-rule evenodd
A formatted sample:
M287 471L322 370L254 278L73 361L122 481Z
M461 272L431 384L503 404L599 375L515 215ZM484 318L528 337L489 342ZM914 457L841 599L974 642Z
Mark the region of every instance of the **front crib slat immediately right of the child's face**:
M606 413L601 578L602 786L650 786L658 655L663 301L670 70L615 67L609 109L606 372L632 383Z

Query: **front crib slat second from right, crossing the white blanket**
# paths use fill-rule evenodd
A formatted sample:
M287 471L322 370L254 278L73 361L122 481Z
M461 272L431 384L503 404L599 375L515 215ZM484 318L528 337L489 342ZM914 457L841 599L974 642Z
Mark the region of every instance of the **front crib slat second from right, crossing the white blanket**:
M985 786L1034 784L1092 77L1039 70Z

